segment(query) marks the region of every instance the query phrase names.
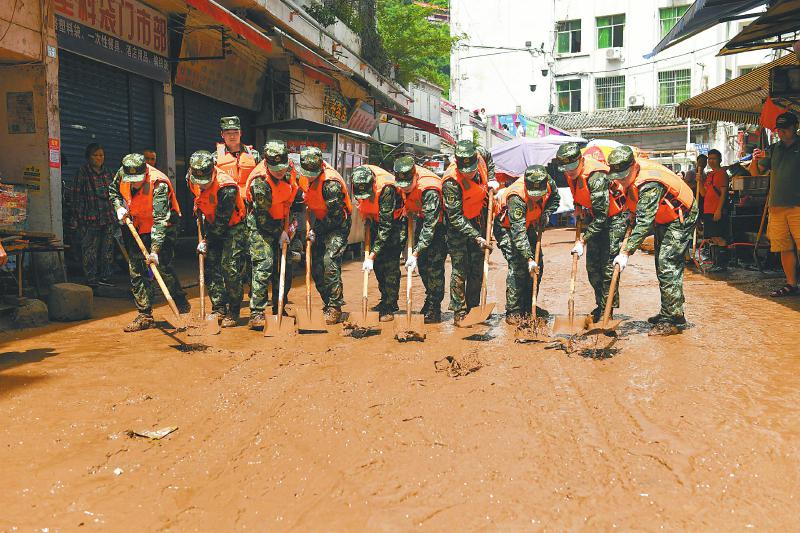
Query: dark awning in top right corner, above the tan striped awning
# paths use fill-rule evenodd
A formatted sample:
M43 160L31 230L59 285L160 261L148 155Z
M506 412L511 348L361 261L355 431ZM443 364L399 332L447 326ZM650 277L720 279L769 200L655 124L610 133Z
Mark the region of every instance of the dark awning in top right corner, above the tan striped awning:
M778 0L720 50L721 56L749 50L785 48L800 31L800 0ZM782 37L788 36L788 40Z

